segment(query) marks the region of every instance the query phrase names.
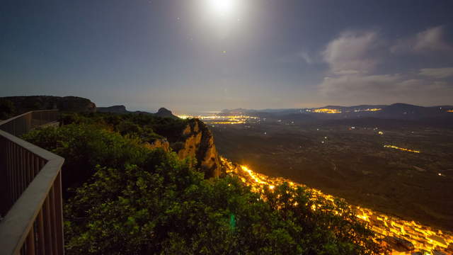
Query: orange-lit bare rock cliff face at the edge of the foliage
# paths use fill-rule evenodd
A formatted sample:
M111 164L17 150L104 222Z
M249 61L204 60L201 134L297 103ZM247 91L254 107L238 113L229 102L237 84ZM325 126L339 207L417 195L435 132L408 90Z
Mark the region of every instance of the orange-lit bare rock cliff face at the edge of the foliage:
M183 145L177 153L180 159L186 157L197 159L196 167L205 173L205 178L219 177L222 174L222 165L214 145L214 137L205 123L200 120L189 120L183 130Z

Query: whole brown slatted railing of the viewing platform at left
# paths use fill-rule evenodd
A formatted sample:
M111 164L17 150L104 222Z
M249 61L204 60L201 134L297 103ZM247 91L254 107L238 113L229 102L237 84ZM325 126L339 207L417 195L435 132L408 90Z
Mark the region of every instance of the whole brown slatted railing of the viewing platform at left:
M57 118L32 111L0 122L0 254L64 254L64 159L16 137Z

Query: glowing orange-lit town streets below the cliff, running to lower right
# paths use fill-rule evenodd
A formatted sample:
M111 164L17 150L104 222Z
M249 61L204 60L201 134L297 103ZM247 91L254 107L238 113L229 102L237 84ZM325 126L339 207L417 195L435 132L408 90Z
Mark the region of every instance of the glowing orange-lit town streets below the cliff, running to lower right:
M289 186L304 186L283 178L273 178L258 174L247 166L232 164L228 159L222 158L227 174L234 174L251 187L254 192L263 191L264 188L273 190L275 186L288 183ZM304 186L306 188L306 186ZM334 197L326 195L314 188L308 188L316 197L333 201ZM386 248L388 254L453 254L453 233L442 232L417 222L401 220L390 217L367 208L352 206L358 218L365 221L377 240ZM316 210L316 208L312 208Z

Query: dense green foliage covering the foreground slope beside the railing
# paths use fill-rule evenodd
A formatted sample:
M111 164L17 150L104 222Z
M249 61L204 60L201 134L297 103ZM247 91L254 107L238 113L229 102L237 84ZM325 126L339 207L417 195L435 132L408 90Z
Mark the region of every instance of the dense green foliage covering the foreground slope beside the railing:
M142 128L140 118L129 120ZM66 159L63 176L90 176L80 179L84 184L65 203L67 254L377 251L372 232L339 200L326 203L287 185L257 194L234 176L204 179L193 169L193 159L147 149L139 136L122 135L121 123L98 123L72 120L25 136ZM310 209L314 204L317 210ZM343 215L331 212L333 206Z

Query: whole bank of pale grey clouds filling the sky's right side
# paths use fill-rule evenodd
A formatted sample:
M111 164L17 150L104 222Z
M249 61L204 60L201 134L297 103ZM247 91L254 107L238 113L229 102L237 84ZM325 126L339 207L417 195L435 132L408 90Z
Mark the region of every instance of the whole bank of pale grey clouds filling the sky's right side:
M406 41L416 52L449 50L442 33L442 27L430 28ZM453 84L436 79L453 76L453 67L420 69L418 75L409 71L382 74L380 67L396 61L396 56L389 54L391 45L391 40L373 30L347 31L328 42L321 52L329 67L319 84L321 94L332 103L345 105L357 101L430 104L432 98L451 103Z

